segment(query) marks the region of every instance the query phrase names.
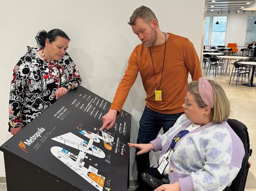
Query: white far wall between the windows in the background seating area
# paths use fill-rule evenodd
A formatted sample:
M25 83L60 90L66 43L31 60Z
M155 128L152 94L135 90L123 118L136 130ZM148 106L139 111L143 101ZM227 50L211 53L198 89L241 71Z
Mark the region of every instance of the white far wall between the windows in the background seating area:
M228 43L237 43L237 46L244 46L248 16L256 16L256 11L254 11L254 13L251 13L249 11L243 13L241 11L237 14L235 14L234 12L231 12L230 14L224 12L222 15L216 12L210 12L207 13L206 16L211 16L211 19L213 19L213 16L228 16L225 46L227 46ZM241 49L241 47L238 48L239 50Z

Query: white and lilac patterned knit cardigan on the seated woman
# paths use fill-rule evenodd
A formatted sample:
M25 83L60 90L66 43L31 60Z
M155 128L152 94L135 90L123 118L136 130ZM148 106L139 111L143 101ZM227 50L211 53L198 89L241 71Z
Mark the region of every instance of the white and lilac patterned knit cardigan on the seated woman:
M159 157L190 123L186 115L181 115L169 131L151 141L154 151L161 150ZM168 164L174 170L169 170L170 183L179 181L181 191L222 191L236 177L244 155L242 141L226 121L208 123L177 142Z

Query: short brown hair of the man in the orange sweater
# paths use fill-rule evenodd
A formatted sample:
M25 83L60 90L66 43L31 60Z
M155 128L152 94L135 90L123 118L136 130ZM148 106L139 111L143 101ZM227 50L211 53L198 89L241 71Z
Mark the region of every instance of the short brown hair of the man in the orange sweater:
M158 24L158 20L155 16L155 13L148 7L146 6L140 6L137 9L135 9L135 11L133 11L132 16L130 17L130 21L128 22L129 25L135 25L135 21L137 18L141 18L143 19L143 21L147 24L150 24L150 22L153 19L156 19L157 24Z

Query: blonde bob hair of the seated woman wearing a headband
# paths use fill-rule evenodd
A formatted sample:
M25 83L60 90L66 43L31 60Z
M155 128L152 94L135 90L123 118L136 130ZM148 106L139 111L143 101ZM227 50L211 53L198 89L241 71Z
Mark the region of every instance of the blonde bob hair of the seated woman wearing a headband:
M213 80L207 80L213 87L214 106L211 108L210 120L214 123L226 121L230 113L229 99L222 86ZM195 101L199 107L205 107L198 91L198 81L191 81L188 84L187 91L194 95Z

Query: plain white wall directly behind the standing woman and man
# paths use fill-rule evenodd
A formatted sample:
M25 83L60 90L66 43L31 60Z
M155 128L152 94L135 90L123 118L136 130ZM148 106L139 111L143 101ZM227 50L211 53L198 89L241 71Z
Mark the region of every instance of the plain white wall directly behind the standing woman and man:
M8 130L8 95L11 73L26 46L35 47L39 30L59 28L71 38L68 53L81 72L82 85L110 102L127 67L133 48L140 43L127 24L140 5L156 14L162 31L188 37L201 50L205 0L1 0L0 63L0 145L11 135ZM193 10L193 14L190 11ZM132 87L124 110L132 114L131 142L137 139L140 116L145 105L140 77ZM136 179L134 149L131 149L130 179ZM5 176L0 153L0 177Z

